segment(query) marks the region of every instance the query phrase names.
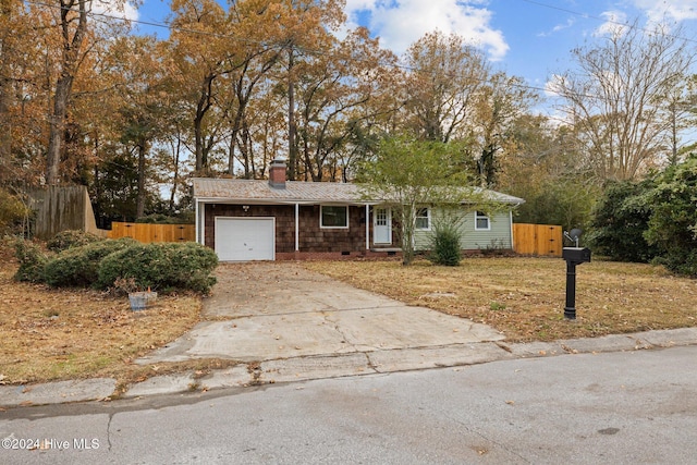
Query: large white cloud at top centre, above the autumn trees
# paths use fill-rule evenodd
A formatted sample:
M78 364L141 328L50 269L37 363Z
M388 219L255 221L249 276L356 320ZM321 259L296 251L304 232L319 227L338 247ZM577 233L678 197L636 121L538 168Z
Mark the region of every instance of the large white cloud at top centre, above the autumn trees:
M383 47L402 54L424 34L440 30L457 34L481 47L491 60L504 58L509 45L501 30L490 26L491 11L484 0L346 0L351 25L358 15Z

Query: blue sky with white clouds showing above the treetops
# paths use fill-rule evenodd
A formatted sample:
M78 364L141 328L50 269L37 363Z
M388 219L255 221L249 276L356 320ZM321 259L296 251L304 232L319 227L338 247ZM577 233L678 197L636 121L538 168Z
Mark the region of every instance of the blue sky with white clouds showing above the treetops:
M345 12L350 26L368 27L398 54L427 32L457 33L497 69L538 88L572 66L570 50L597 40L613 22L668 21L690 39L697 30L697 0L346 0ZM168 0L145 0L129 16L163 23L168 14Z

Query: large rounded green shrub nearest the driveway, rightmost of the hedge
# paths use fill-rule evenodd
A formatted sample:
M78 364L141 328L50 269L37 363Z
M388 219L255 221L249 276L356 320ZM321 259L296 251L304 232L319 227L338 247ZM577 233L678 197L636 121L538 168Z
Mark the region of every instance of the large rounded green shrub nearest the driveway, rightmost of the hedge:
M142 289L207 293L216 283L210 276L216 266L216 253L200 244L138 244L102 260L98 285L108 289L117 280L133 279Z

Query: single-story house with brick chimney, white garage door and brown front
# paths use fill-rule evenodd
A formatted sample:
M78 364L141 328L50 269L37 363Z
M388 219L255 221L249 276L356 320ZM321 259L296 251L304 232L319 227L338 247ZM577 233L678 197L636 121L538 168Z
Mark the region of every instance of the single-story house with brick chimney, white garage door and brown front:
M196 241L221 261L379 256L399 252L395 218L383 200L366 200L347 183L285 181L274 160L269 180L193 180ZM488 191L508 209L491 217L463 208L463 249L513 247L512 209L524 200ZM466 206L465 206L466 207ZM419 209L416 249L424 249L437 211Z

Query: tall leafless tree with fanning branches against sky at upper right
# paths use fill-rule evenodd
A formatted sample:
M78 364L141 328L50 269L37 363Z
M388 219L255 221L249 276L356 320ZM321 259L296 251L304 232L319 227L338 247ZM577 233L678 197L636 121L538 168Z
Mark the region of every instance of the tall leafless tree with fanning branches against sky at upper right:
M635 179L669 146L669 96L694 60L680 35L617 26L600 45L573 50L577 69L554 81L601 180Z

